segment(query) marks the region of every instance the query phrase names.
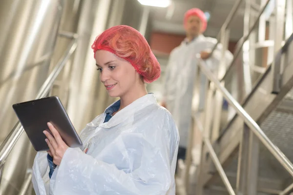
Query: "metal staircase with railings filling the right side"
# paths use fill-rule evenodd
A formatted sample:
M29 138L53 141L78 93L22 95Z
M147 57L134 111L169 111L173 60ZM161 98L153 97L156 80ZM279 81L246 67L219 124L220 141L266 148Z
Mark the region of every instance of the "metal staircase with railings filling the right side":
M198 59L208 82L204 105L199 105L204 109L195 112L190 132L193 139L196 132L202 136L201 143L191 140L188 147L191 156L192 147L201 145L201 160L191 179L187 173L192 160L187 160L190 195L293 192L292 0L237 0L218 39L224 48L232 31L230 20L241 3L244 36L230 66L221 63L214 75ZM228 110L222 107L223 99ZM192 179L196 186L189 185Z

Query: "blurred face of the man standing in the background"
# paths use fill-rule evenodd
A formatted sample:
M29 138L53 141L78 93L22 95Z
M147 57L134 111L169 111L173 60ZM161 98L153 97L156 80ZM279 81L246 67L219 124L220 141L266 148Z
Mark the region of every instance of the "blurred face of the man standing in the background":
M202 21L197 16L190 16L185 22L185 31L189 37L197 37L201 34Z

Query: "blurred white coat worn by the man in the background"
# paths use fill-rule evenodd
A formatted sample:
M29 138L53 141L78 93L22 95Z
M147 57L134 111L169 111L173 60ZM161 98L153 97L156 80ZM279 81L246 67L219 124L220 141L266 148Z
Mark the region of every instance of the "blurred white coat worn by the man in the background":
M216 42L216 39L200 35L189 43L184 40L170 53L163 86L163 101L166 102L167 110L170 111L176 121L180 136L180 147L187 148L188 146L193 89L198 70L196 54L204 50L210 51ZM221 50L222 45L218 44L212 56L206 60L206 64L213 72L217 71L222 56ZM229 51L226 51L225 56L226 64L229 65L233 56ZM206 77L201 75L200 82L202 86L200 93L204 94L205 91L202 89L204 89Z

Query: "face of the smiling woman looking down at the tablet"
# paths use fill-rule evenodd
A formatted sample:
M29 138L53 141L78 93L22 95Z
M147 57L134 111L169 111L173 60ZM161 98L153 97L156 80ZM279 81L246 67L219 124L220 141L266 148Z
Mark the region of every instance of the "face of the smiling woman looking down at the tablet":
M111 52L98 50L95 54L100 80L110 97L122 97L135 90L140 76L133 66Z

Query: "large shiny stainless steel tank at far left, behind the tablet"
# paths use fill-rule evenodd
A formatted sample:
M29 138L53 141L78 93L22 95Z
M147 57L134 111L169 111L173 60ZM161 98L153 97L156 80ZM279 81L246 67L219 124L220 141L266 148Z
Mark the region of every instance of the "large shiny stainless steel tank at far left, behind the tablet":
M50 63L54 64L52 57L58 59L53 49L68 2L1 1L0 142L17 122L12 104L34 99L48 76ZM76 0L71 3L76 3ZM60 52L62 47L60 43L58 45ZM32 167L34 156L35 151L24 133L4 164L1 195L18 194L27 169Z

